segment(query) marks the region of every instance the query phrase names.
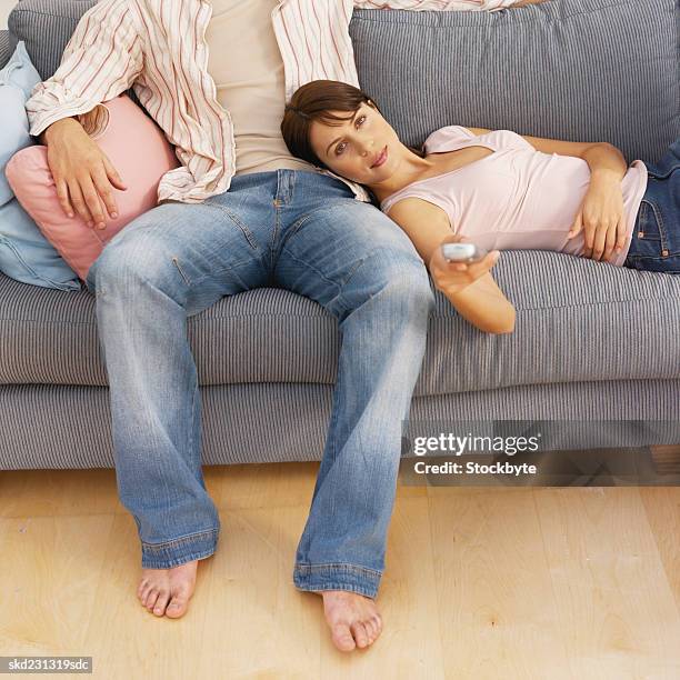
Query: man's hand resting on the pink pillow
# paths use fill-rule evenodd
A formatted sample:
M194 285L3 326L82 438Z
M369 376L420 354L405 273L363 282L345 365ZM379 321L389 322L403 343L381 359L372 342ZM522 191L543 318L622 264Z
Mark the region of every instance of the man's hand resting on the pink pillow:
M76 210L88 227L103 229L107 211L118 217L112 187L127 189L107 154L74 118L53 122L41 139L47 142L48 166L64 213L73 217Z

